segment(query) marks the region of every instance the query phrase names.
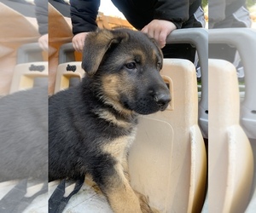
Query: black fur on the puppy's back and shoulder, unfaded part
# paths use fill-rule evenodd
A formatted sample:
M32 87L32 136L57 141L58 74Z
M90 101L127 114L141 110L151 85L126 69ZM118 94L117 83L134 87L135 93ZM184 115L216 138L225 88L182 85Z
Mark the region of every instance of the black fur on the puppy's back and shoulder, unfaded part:
M117 130L116 125L98 118L91 110L99 106L102 101L91 94L90 86L79 85L49 98L49 181L77 179L85 173L101 178L115 164L99 147L130 130ZM136 124L137 118L131 122Z

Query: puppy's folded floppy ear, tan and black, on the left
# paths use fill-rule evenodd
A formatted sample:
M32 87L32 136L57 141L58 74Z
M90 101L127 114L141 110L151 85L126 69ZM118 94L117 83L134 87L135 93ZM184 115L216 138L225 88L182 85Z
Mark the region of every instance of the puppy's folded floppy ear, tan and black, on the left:
M82 68L92 76L99 68L103 56L113 44L128 38L127 32L101 30L90 32L85 38Z

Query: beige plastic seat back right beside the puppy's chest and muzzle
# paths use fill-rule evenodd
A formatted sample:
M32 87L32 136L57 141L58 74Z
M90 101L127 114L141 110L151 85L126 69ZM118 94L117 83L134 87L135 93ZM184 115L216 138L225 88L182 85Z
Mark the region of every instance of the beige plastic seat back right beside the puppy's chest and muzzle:
M195 66L189 60L164 60L161 71L172 103L165 112L140 116L131 147L131 185L161 213L200 212L207 158L198 126Z

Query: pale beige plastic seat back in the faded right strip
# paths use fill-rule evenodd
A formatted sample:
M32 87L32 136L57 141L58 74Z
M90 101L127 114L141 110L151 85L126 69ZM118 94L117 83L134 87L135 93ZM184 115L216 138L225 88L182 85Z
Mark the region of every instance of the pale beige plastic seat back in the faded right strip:
M244 212L249 201L253 153L239 124L239 96L236 68L209 60L209 212Z

